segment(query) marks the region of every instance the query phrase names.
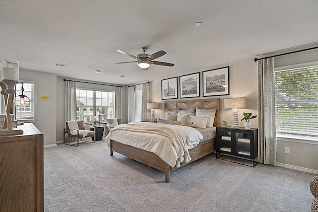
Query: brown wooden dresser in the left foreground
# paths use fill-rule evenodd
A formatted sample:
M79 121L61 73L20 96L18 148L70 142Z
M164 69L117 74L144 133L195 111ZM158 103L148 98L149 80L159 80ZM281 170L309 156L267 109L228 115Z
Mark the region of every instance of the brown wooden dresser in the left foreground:
M18 129L0 136L0 212L43 212L43 134L30 123Z

